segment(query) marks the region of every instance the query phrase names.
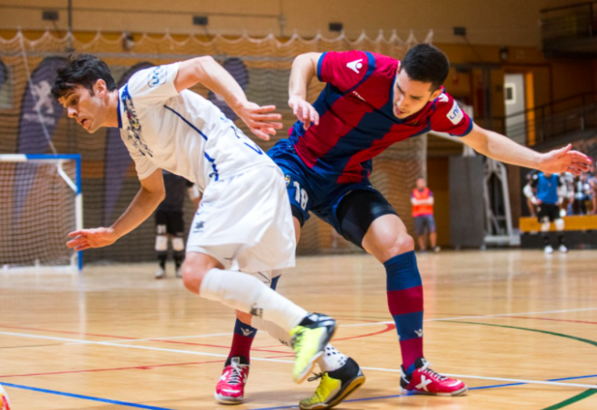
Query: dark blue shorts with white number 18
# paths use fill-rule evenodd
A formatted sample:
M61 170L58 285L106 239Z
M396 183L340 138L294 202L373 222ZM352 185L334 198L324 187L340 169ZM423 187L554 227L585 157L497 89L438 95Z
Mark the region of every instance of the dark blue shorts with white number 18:
M313 212L341 235L342 230L336 217L336 210L346 194L359 190L377 191L368 180L338 183L311 171L287 139L282 139L275 144L268 151L268 155L284 172L290 205L300 211L303 222L309 218L309 211Z

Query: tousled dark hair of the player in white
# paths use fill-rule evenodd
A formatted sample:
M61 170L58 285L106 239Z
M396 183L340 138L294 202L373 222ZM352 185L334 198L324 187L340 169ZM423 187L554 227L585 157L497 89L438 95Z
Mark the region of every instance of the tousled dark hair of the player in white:
M71 55L69 61L57 69L58 76L52 84L52 97L62 98L71 89L83 86L93 95L93 86L98 79L106 81L106 87L113 91L118 89L112 78L108 64L91 54Z

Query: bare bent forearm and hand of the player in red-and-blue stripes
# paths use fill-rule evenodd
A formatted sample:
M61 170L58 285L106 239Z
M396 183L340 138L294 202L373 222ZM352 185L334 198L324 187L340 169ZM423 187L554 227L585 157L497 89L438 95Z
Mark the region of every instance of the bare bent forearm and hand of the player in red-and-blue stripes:
M317 61L320 52L300 54L292 62L289 82L289 107L292 114L302 121L305 129L311 124L319 124L317 110L307 102L307 89L311 79L317 75Z

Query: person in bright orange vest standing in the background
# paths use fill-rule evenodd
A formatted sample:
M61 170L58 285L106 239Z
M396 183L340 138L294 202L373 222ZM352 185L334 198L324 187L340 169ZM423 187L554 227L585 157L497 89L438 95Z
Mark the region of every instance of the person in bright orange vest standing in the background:
M437 246L437 233L435 232L435 219L433 219L433 192L427 188L424 179L417 179L417 187L412 190L412 218L414 219L414 230L419 239L419 249L426 250L425 232L429 233L431 249L440 251Z

